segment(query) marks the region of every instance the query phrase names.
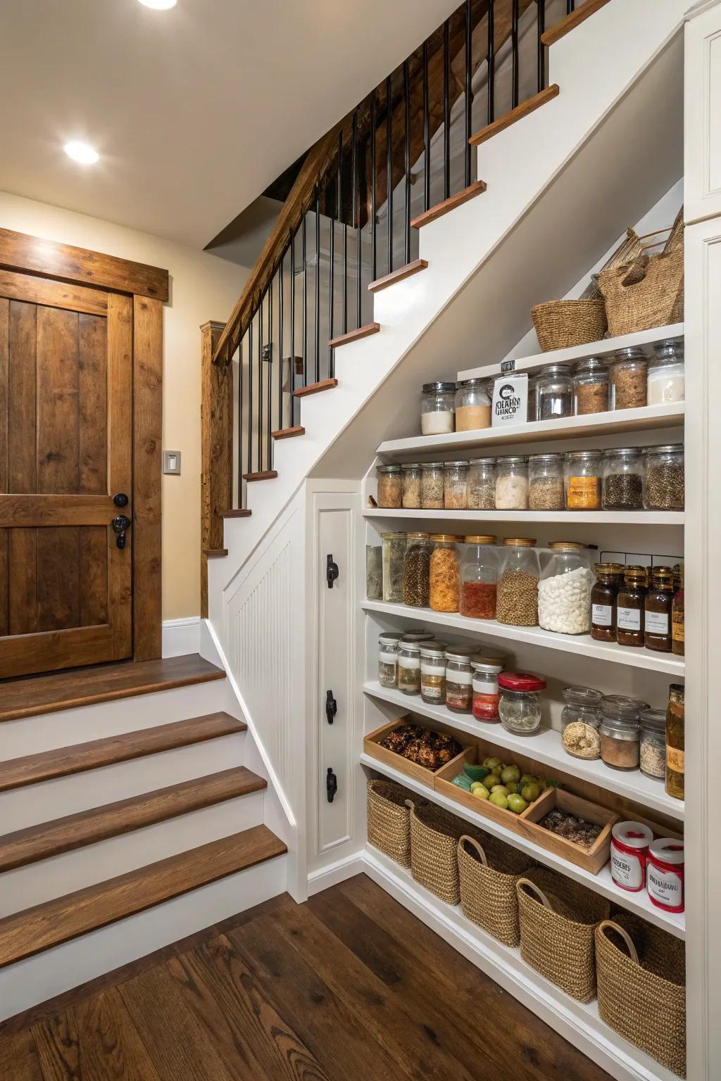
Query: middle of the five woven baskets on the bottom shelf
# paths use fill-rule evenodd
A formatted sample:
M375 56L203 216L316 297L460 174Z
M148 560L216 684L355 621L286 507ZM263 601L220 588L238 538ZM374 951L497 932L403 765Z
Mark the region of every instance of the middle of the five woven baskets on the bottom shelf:
M506 946L521 940L516 883L531 866L523 852L489 837L458 840L460 907L464 916Z

